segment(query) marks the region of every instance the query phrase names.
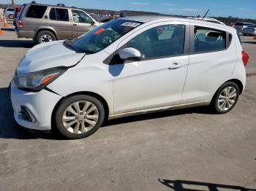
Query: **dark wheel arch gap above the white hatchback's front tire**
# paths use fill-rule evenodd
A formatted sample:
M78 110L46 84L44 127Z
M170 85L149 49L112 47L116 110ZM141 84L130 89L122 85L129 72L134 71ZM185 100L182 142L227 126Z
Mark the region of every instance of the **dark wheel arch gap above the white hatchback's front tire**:
M105 100L105 98L102 97L102 95L99 95L97 93L94 92L89 92L89 91L82 91L82 92L76 92L76 93L71 93L63 98L61 98L58 103L56 104L56 106L54 106L53 112L51 114L51 125L53 126L54 124L54 115L56 114L56 110L58 109L59 105L61 104L61 101L64 100L65 98L69 98L73 95L90 95L91 97L97 98L103 105L104 109L105 109L105 117L104 119L107 120L108 119L108 114L109 114L109 106L108 106L108 102Z

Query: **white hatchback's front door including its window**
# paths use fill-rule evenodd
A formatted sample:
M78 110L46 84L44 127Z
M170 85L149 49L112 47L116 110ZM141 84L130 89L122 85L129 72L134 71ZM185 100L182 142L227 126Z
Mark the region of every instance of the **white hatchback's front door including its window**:
M139 50L142 58L124 63L114 77L116 114L181 103L189 64L186 28L185 23L155 24L133 34L126 46Z

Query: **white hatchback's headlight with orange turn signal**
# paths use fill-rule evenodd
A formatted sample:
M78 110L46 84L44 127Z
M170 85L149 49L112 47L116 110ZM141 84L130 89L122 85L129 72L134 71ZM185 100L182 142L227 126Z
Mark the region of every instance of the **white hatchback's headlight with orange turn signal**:
M49 85L50 82L53 82L53 80L61 76L65 71L67 71L67 68L59 67L27 74L19 74L18 76L13 77L13 81L21 90L38 92Z

